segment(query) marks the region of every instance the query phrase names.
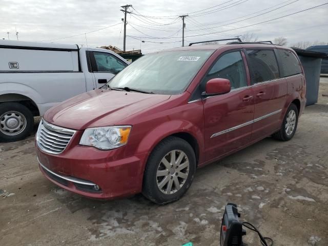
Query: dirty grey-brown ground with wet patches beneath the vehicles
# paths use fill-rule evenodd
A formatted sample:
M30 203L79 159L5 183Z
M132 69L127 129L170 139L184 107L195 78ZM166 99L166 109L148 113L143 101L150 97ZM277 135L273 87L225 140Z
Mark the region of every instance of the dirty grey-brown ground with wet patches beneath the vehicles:
M34 136L0 144L0 245L219 245L227 202L275 245L328 245L328 78L291 141L266 138L197 170L179 201L141 195L98 201L60 189L38 170ZM0 191L1 193L1 191ZM260 245L248 232L249 245Z

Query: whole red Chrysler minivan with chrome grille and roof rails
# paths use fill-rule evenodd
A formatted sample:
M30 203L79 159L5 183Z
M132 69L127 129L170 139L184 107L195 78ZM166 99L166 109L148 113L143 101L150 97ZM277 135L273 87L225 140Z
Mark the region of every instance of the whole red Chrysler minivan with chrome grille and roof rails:
M304 106L304 72L292 49L160 51L50 109L36 134L37 160L49 180L74 193L142 192L163 204L186 193L198 167L271 135L290 140Z

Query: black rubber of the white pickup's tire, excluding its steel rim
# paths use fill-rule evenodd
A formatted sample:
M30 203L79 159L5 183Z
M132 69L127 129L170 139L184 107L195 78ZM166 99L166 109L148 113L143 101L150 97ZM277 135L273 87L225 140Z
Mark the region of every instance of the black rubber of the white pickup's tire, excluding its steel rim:
M25 116L26 119L26 128L23 132L14 135L8 136L0 132L0 142L13 142L17 140L22 140L26 138L33 130L34 118L31 111L24 105L18 103L3 103L0 104L0 116L5 112L17 111Z

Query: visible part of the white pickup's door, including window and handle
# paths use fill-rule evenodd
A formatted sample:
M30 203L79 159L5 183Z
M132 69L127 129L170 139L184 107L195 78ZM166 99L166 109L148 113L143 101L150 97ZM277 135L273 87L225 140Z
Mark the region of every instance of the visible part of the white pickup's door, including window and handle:
M108 80L128 66L119 57L107 52L89 51L88 54L95 88L103 86Z

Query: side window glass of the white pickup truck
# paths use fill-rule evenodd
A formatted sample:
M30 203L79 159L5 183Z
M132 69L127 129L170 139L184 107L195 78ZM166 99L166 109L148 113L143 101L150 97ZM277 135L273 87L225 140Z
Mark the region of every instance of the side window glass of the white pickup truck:
M93 55L95 58L97 72L117 74L127 66L127 64L123 63L121 60L109 53L93 52Z

